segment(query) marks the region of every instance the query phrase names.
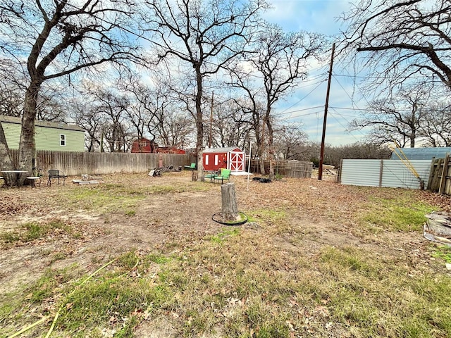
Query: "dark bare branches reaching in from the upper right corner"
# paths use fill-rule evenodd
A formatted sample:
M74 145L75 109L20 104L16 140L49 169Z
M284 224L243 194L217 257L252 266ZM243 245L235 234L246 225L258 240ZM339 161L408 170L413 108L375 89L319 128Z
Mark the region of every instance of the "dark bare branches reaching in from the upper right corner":
M345 42L364 54L373 84L421 77L451 89L450 12L449 0L362 0L342 17Z

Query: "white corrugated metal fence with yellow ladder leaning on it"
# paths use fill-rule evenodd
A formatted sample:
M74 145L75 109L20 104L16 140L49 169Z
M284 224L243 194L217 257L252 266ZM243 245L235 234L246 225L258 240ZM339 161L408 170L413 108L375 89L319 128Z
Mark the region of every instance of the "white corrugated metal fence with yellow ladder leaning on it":
M430 160L409 161L423 182L428 182ZM420 181L403 161L395 160L342 160L340 168L342 184L366 187L393 187L420 189Z

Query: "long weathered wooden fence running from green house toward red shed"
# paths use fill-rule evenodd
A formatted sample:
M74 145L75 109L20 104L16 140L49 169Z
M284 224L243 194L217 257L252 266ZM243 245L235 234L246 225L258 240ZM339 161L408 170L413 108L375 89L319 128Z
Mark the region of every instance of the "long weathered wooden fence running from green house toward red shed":
M11 150L18 162L18 151ZM36 168L47 175L48 170L62 170L66 175L104 175L113 173L142 173L159 167L175 168L190 164L186 154L88 153L75 151L37 151Z

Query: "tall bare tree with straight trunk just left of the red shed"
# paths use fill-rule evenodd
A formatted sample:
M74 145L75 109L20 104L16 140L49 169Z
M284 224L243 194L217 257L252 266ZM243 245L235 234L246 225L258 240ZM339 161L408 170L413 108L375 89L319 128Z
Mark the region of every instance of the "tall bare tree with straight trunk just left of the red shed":
M257 30L264 0L147 0L148 24L159 41L159 58L175 58L194 75L193 118L196 124L197 179L203 179L204 82L245 50ZM183 66L182 66L183 67ZM187 103L187 106L190 106Z

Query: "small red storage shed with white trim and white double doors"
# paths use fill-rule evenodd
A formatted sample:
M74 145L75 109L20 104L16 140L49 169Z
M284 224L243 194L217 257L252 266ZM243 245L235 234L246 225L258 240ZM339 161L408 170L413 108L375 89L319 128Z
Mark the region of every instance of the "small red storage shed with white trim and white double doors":
M245 171L245 152L237 146L205 149L203 154L205 170L230 169L233 172Z

